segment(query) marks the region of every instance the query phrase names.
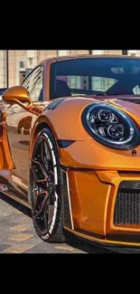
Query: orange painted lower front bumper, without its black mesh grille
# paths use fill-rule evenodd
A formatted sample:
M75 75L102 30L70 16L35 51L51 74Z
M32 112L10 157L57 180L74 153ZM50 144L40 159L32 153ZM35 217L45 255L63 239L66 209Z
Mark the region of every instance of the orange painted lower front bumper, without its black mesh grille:
M76 233L87 239L114 243L114 235L140 234L140 225L114 225L118 186L122 181L140 181L140 175L119 175L117 171L69 171L70 201ZM69 230L69 228L68 228ZM79 231L80 230L80 231ZM84 233L85 232L85 233ZM125 242L140 246L139 242Z

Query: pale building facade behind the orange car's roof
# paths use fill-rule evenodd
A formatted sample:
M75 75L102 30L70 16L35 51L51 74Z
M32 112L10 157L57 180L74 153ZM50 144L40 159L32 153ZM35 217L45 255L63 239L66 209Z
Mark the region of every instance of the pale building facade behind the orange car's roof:
M92 53L121 55L122 51L92 50ZM0 88L6 88L7 84L8 87L20 85L28 72L46 58L73 54L89 54L89 50L0 50ZM128 54L140 56L140 51L128 51Z

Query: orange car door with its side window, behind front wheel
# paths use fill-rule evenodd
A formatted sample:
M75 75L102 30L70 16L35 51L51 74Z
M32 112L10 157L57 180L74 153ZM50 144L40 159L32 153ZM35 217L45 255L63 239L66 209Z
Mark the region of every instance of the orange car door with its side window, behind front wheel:
M43 65L37 66L23 81L22 86L28 90L33 103L43 100ZM7 134L11 147L14 168L11 173L28 182L29 141L33 114L18 105L7 108Z

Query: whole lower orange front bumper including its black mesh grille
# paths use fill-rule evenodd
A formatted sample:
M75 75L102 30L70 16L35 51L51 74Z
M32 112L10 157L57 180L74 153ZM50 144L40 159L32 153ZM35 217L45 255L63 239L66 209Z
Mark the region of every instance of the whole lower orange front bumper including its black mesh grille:
M67 170L73 229L89 241L140 247L140 173Z

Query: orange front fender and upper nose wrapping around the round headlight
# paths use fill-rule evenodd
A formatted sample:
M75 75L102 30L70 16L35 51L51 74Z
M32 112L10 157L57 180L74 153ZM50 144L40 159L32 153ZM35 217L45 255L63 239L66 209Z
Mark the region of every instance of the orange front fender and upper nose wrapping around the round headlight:
M36 137L35 130L38 124L46 122L56 139L75 140L76 142L70 147L60 149L61 164L64 166L140 170L140 146L135 148L136 155L132 155L132 150L105 147L91 138L82 126L81 113L83 109L87 105L97 102L98 100L89 98L68 98L61 102L57 109L53 109L53 111L46 109L43 115L35 121L32 136ZM127 103L130 104L126 102L126 106ZM135 119L135 123L140 126L139 105L135 105L131 113L127 109L122 110Z

